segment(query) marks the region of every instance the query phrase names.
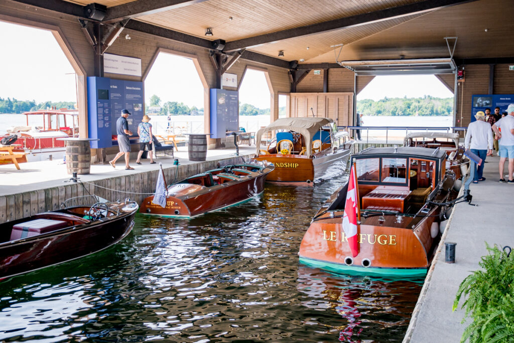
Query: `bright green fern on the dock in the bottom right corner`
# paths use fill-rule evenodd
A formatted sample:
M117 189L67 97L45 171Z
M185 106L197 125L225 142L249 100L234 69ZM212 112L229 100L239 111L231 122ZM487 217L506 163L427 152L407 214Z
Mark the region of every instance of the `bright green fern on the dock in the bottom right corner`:
M486 243L487 245L487 243ZM473 322L464 330L461 342L511 342L514 337L514 257L498 246L487 245L488 256L483 256L475 270L458 287L453 311L461 298L466 309L463 319L471 317Z

